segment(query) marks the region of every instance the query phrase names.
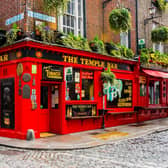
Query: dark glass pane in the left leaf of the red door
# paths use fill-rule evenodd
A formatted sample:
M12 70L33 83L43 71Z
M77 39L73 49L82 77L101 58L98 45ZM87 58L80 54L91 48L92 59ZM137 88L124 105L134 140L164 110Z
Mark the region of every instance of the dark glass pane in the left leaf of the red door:
M48 108L48 87L41 86L41 106L42 109Z

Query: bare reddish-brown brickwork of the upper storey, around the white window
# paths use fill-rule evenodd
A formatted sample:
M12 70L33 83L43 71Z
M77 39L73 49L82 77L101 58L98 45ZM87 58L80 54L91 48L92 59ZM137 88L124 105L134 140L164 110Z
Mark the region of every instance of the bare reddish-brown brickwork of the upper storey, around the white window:
M0 3L0 27L9 29L11 25L5 26L5 20L25 11L25 0L1 0ZM44 13L42 0L27 1L29 10ZM102 0L86 0L86 36L88 40L92 40L96 35L105 42L120 42L119 34L115 34L109 27L109 14L117 5L117 0L110 1L104 9L104 30L103 30L103 8ZM122 0L122 4L129 8L132 15L131 28L131 48L136 50L136 30L135 30L135 0ZM52 14L52 16L55 16ZM37 19L36 19L37 20ZM32 31L35 19L25 17L24 20L16 22L25 31ZM49 23L49 26L56 29L56 24Z

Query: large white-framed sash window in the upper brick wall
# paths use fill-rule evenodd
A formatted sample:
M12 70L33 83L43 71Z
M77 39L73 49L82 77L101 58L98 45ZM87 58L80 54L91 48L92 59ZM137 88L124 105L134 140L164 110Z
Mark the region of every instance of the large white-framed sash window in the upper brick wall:
M83 0L70 0L65 14L59 17L59 30L83 36Z

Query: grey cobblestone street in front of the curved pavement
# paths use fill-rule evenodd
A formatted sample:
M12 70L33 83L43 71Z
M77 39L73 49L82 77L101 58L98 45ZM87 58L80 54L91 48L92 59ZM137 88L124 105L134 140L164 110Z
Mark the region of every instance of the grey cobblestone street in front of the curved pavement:
M84 150L0 147L0 168L166 168L168 131Z

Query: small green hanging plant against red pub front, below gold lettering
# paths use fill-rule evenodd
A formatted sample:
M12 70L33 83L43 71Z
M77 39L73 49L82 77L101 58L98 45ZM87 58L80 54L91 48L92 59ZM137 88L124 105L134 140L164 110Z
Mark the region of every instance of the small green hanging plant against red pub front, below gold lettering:
M113 72L111 72L110 68L108 68L106 71L101 72L101 80L103 83L110 83L113 84L115 80L115 75Z

